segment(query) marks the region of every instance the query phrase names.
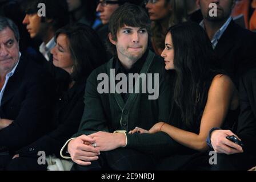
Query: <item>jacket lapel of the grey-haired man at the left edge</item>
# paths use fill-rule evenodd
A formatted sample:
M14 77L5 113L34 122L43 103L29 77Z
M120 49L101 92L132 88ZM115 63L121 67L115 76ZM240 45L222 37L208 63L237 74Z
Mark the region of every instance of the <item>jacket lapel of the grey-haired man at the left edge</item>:
M25 71L25 60L21 56L19 64L15 69L13 76L11 76L7 82L5 92L3 93L1 106L5 105L7 101L13 98L17 87L21 84L23 72Z

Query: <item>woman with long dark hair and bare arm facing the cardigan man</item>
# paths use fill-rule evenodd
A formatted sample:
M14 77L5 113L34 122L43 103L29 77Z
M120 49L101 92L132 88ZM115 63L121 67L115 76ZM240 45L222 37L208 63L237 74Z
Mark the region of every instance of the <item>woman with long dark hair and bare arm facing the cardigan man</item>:
M164 132L180 147L174 154L194 154L208 150L206 138L213 127L231 128L237 110L238 93L229 76L214 69L215 56L210 40L197 23L181 23L168 30L162 52L165 69L174 69L174 94L169 123L159 122L149 131L139 127L131 133ZM170 71L169 71L170 72ZM175 156L176 159L177 156ZM174 158L174 159L175 159ZM173 159L173 158L172 158ZM182 160L165 160L177 169ZM173 165L173 166L172 166Z

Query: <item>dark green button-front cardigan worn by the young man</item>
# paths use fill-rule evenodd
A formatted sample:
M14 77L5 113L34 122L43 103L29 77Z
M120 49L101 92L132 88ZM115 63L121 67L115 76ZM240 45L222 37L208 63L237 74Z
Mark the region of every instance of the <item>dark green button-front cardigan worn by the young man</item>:
M97 80L100 73L107 73L110 78L110 69L113 69L113 59L95 69L87 78L85 91L85 109L78 133L89 135L97 131L113 133L115 130L129 132L136 126L149 130L159 121L167 122L170 113L170 82L165 80L164 63L161 57L149 51L143 64L141 73L159 73L158 100L149 100L150 94L130 94L126 103L121 94L99 94ZM154 80L154 79L153 79ZM147 154L159 156L170 155L177 149L177 143L165 133L156 134L127 134L127 148L133 148Z

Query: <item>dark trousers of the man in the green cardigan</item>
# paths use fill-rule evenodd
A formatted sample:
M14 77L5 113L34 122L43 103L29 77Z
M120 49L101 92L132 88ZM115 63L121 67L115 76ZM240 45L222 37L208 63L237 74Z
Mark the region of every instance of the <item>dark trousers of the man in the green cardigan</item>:
M113 151L101 152L97 161L91 162L90 166L80 166L74 164L73 171L142 171L153 170L158 159L154 156L141 152L117 148Z

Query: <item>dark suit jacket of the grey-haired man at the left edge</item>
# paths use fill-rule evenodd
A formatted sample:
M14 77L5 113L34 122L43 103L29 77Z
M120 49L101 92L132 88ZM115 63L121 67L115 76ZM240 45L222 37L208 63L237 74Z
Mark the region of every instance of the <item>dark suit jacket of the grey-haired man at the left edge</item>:
M2 97L0 117L14 122L0 130L0 150L18 150L47 131L52 89L50 77L22 55Z

